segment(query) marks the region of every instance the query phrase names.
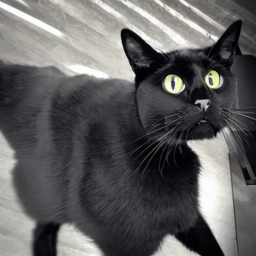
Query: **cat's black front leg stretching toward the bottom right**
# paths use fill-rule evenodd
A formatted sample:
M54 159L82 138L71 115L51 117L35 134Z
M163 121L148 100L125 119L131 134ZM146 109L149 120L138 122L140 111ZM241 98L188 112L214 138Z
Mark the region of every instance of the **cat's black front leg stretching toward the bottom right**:
M188 249L197 252L201 256L224 256L208 224L201 215L193 227L185 232L175 234Z

